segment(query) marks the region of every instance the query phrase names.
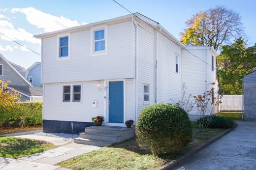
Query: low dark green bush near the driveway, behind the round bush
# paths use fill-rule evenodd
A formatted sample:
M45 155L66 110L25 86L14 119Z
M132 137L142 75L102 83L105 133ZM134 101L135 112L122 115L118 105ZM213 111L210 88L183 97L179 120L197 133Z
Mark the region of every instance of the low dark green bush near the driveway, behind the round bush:
M197 122L199 122L200 119L203 119L203 117L199 118ZM211 115L211 118L210 116L205 116L204 119L211 120L208 126L209 128L230 128L234 125L234 122L231 119L221 116Z

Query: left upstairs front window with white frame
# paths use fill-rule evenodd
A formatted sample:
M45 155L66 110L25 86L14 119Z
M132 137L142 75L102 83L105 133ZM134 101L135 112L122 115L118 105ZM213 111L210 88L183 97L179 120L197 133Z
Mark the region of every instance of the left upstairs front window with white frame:
M70 33L57 36L57 60L70 58Z

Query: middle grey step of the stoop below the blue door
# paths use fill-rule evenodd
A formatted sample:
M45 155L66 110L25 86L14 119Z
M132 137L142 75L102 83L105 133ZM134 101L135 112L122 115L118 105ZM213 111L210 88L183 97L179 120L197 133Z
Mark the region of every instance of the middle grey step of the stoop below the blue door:
M82 132L82 133L79 133L79 137L85 138L85 139L119 142L118 138L120 138L121 135L103 134L103 133L94 133L94 132Z

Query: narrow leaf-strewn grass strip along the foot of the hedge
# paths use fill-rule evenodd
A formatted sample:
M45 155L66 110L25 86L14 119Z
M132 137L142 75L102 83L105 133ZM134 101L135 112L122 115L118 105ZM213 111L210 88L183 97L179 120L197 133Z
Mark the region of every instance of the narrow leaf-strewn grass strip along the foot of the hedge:
M0 135L42 130L42 126L0 128Z

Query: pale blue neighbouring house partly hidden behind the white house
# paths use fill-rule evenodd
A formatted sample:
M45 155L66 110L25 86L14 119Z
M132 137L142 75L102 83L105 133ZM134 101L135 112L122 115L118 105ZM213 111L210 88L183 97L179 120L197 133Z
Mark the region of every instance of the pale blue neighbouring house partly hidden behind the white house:
M25 73L25 78L32 84L34 87L42 87L41 84L41 63L35 62L30 66Z

